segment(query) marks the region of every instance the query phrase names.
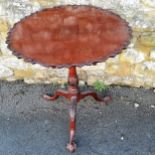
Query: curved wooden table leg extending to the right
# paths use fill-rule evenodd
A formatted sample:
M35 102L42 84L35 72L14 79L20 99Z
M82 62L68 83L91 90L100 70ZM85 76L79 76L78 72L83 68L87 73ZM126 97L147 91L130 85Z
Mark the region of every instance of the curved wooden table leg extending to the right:
M94 91L86 91L80 94L79 99L83 99L87 96L92 96L96 101L99 101L105 105L107 105L109 103L109 101L112 100L111 96L105 96L105 97L100 97L96 92Z

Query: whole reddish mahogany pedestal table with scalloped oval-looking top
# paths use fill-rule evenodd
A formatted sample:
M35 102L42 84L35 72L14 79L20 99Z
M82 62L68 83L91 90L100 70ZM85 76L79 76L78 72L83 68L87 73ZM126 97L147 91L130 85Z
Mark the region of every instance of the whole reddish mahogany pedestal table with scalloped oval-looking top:
M10 30L8 47L17 57L47 67L69 69L68 90L44 95L48 100L64 96L70 104L70 139L67 149L74 152L77 103L92 96L107 103L93 91L81 92L76 67L95 65L125 49L131 38L128 23L117 14L84 5L44 9L25 17Z

